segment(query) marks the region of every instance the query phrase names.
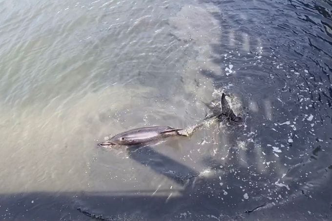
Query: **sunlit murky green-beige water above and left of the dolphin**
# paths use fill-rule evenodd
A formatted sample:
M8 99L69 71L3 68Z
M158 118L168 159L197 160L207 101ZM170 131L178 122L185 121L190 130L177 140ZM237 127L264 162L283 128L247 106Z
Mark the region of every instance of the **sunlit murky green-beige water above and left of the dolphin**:
M211 81L199 63L188 66L193 43L174 35L204 35L197 47L218 38L218 29L183 32L187 23L177 23L196 10L212 29L208 11L192 6L176 15L181 4L152 1L2 5L1 146L11 168L1 171L11 178L2 180L4 192L84 190L97 139L204 117ZM195 78L207 88L197 93Z

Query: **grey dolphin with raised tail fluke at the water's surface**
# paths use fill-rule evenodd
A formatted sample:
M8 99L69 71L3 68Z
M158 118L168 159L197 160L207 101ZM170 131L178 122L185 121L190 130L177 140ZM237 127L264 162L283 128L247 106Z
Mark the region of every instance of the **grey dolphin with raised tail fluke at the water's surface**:
M207 121L213 120L241 121L230 108L226 95L221 96L221 112L200 121L199 123L185 129L174 129L169 126L148 126L125 131L110 138L108 141L99 143L99 146L139 146L153 141L159 141L168 137L190 136L197 128L203 126Z

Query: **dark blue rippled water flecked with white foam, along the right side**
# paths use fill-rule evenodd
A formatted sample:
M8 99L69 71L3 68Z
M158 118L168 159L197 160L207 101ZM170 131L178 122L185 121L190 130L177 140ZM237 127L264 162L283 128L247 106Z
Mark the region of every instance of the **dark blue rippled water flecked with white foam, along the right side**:
M225 71L201 74L249 108L242 135L248 146L229 148L227 155L233 162L227 165L251 183L257 201L247 211L267 220L281 219L272 208L290 220L331 219L331 4L214 2L222 11L214 17L223 33L213 46L221 56L210 59Z

